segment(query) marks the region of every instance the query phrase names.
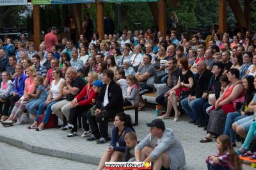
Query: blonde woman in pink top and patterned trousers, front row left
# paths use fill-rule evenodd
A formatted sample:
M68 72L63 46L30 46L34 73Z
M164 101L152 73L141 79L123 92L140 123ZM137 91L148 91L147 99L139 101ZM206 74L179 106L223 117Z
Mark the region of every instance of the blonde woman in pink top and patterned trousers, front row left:
M13 125L13 121L15 121L17 118L19 120L17 121L17 124L22 123L28 123L29 117L28 114L24 115L22 112L26 109L26 104L31 100L28 93L34 93L35 92L35 77L37 76L36 69L34 66L28 66L26 68L26 73L28 75L28 79L25 81L25 88L24 88L24 94L19 99L18 102L15 103L12 112L9 116L9 118L6 121L3 121L3 125Z

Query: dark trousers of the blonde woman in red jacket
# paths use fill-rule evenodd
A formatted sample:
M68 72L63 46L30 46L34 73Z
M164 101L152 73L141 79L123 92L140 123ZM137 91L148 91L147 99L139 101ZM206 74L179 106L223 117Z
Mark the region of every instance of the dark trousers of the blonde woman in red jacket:
M77 107L71 108L70 109L70 114L68 118L68 123L72 124L74 128L72 129L72 132L77 132L77 117L78 116L83 116L83 128L85 131L90 130L90 127L87 123L87 117L86 114L89 111L89 109L92 107L92 105L84 105L80 106L77 105Z

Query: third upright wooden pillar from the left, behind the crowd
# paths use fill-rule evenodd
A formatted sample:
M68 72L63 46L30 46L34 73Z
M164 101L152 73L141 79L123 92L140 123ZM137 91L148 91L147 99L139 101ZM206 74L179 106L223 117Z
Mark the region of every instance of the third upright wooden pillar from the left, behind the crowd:
M159 31L163 32L163 36L166 35L166 0L158 1L158 27Z

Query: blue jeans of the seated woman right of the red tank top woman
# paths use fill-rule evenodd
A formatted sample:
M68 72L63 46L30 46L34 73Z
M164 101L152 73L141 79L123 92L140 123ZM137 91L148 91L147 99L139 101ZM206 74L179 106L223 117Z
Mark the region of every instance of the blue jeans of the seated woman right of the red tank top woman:
M225 129L223 134L230 136L231 143L236 142L236 132L232 129L232 123L234 123L237 120L241 120L242 118L245 118L246 115L241 115L240 112L229 112L226 118L225 122Z

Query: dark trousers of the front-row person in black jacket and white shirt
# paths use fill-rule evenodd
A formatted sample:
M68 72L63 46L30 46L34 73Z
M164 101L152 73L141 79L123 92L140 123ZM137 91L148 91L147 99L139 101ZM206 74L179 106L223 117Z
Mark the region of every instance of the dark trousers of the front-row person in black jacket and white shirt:
M92 116L92 112L87 112L87 118L89 121L90 128L92 130L92 134L99 139L100 137L108 137L108 120L109 118L114 118L117 114L115 109L111 109L107 111L108 114L104 117L104 120L99 123L96 121L96 116Z

